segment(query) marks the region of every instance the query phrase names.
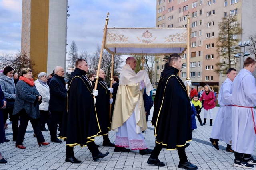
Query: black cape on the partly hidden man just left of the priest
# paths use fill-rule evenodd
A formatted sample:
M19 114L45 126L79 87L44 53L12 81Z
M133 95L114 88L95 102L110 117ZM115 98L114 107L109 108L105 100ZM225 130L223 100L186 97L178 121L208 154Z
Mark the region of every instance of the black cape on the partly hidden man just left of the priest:
M92 82L92 89L94 89L95 80ZM106 84L104 84L103 79L100 77L97 85L98 96L96 96L96 112L98 115L98 120L100 123L101 133L100 135L107 135L110 130L110 118L109 118L109 99L110 90L108 90Z

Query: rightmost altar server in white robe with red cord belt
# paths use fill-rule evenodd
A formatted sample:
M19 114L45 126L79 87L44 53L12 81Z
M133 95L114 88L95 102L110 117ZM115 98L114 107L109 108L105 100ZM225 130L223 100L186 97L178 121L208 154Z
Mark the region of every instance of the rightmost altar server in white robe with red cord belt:
M256 61L248 57L244 69L233 81L231 102L232 108L232 149L235 151L234 166L253 168L256 160L251 156L256 137L256 86L252 72Z

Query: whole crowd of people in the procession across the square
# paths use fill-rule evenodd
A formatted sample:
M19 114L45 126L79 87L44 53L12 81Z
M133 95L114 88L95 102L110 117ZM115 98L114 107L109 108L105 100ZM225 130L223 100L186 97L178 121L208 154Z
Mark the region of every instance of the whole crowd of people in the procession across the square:
M180 55L170 55L154 101L148 74L145 70L135 73L136 65L136 59L128 57L120 77L113 76L111 88L104 81L104 70L86 76L89 66L83 59L76 61L67 84L61 66L56 66L49 75L40 72L36 81L30 68L23 68L18 75L14 68L6 66L0 74L0 143L10 141L4 132L9 116L12 140L19 149L26 148L24 135L30 121L39 147L50 142L62 143L60 139L66 141L66 162L82 162L74 155L77 145L87 146L94 161L107 156L109 152L100 152L99 145L94 143L95 137L102 136L103 146L114 147L115 152L139 150L141 155L150 155L147 163L155 166L165 166L158 159L162 148L177 150L178 167L196 170L197 166L188 161L185 148L192 141L192 131L197 128L195 117L204 126L209 115L210 126L213 125L210 137L213 147L218 150L218 141L222 140L227 144L226 151L234 152L234 166L253 168L256 165L251 156L256 134L253 109L256 86L252 76L255 59L248 57L238 75L234 68L227 70L227 79L218 93L220 108L214 123L216 93L206 84L200 92L191 88L188 96L186 86L190 86L191 81L182 82L178 76L182 68ZM154 149L150 149L142 133L147 129L153 104L151 123L155 127L156 140ZM116 132L115 141L108 137L110 130ZM42 131L50 132L50 142L45 141ZM60 131L58 136L57 131ZM7 163L1 152L0 163Z

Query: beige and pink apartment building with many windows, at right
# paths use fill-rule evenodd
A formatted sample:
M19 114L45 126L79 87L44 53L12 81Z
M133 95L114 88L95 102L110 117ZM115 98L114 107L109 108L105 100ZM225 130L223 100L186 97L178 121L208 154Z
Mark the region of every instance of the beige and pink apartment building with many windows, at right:
M186 63L185 51L181 54L184 63L180 72L182 80L189 76L192 86L197 88L205 84L221 86L226 75L214 72L215 63L222 62L216 51L218 23L223 17L236 16L243 34L234 36L240 41L247 41L248 36L254 34L252 28L256 26L256 22L252 22L256 14L254 5L256 1L251 0L156 0L156 27L187 27L187 16L190 16L190 63ZM162 61L160 58L158 61ZM242 67L240 59L235 61L238 71ZM158 62L158 68L164 63ZM190 67L189 73L186 72L187 66ZM162 70L156 69L156 72L160 75Z

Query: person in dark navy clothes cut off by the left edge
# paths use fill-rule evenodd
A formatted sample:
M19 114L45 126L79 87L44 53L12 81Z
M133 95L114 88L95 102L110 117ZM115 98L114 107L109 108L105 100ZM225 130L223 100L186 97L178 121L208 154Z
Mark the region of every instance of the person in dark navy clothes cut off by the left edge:
M0 86L0 143L5 142L5 133L4 133L4 120L3 120L3 112L2 109L6 107L6 99L4 98L4 93L2 92L1 86ZM1 152L0 152L0 164L6 164L7 161L3 158Z

